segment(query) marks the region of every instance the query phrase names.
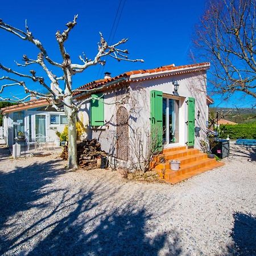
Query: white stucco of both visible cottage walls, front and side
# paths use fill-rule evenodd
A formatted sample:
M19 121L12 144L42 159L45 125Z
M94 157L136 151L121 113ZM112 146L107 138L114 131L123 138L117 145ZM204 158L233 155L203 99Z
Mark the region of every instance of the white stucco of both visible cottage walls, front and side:
M150 133L150 92L151 90L160 90L164 94L174 94L172 80L179 83L179 143L168 144L166 147L184 146L187 142L187 103L188 97L195 98L195 126L200 127L199 133L195 136L195 147L200 149L200 140L205 138L206 123L208 120L208 106L206 102L206 73L187 73L184 75L167 76L158 79L134 81L130 83L129 101L122 104L129 112L129 155L130 159L134 156L134 136L142 134L142 139L147 140L147 133ZM117 96L117 94L120 94ZM116 122L117 110L121 106L115 104L123 95L119 92L109 92L105 95L105 126L91 127L89 125L90 102L84 104L81 108L83 123L88 133L88 138L100 138L102 149L112 151L116 154ZM199 116L197 113L200 111ZM147 143L144 143L143 150L146 151Z

